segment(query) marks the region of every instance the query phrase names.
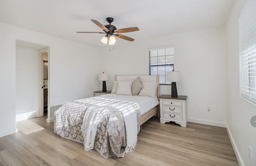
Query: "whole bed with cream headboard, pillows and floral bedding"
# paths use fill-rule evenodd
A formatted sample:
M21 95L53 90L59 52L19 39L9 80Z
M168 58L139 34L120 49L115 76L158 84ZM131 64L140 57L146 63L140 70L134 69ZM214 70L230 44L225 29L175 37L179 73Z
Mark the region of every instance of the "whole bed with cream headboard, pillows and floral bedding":
M158 96L158 75L116 76L112 94L67 102L56 110L54 133L104 158L124 157L135 148L140 126L159 116Z

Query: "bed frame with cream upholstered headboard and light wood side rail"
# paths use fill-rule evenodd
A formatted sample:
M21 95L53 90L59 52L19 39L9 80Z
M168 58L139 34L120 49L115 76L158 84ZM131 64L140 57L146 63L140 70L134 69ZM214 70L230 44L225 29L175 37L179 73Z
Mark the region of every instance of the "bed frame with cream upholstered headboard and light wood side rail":
M147 82L158 82L157 86L157 97L159 97L159 75L157 74L156 76L117 76L115 77L116 81L133 81L137 77L140 77L141 81L147 81ZM159 104L140 116L140 126L144 124L147 120L149 120L151 117L153 117L155 114L157 114L158 118L160 117L160 112L159 112Z

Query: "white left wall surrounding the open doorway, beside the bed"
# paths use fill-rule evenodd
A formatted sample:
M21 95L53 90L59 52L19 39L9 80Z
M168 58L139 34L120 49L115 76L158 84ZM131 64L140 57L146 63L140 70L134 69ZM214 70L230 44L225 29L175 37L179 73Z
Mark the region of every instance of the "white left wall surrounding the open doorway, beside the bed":
M98 90L97 48L2 23L0 36L0 136L16 131L16 40L50 46L48 100L51 107L93 96ZM53 113L48 114L50 121Z

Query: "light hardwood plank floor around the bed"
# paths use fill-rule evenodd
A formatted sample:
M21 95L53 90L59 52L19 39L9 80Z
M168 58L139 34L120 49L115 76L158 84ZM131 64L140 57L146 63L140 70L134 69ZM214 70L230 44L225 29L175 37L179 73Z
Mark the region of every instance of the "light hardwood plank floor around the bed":
M104 159L96 150L56 136L46 117L17 122L18 132L0 138L0 166L238 166L226 128L148 120L134 152Z

